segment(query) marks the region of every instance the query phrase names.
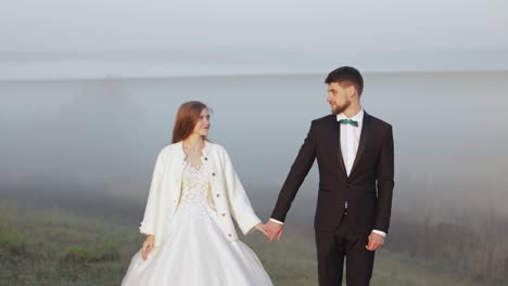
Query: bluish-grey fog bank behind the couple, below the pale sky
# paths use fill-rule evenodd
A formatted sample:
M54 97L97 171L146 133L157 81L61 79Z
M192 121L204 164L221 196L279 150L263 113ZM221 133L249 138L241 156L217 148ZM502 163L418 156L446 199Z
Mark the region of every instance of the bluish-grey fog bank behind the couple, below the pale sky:
M199 100L213 109L209 139L268 211L259 204L277 196L310 120L330 113L325 76L0 81L1 191L93 186L143 205L179 104ZM507 214L507 76L365 75L364 108L394 127L396 211ZM309 206L292 213L312 217L316 169L297 196Z

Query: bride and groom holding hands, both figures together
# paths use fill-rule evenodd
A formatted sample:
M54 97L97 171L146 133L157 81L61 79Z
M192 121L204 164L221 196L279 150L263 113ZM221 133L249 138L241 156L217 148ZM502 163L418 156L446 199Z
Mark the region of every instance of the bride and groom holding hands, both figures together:
M369 285L374 250L390 225L394 186L392 127L360 105L364 80L348 66L331 72L327 101L332 115L310 125L266 224L254 213L226 150L207 140L208 108L187 102L178 109L173 144L155 162L140 231L124 286L272 285L256 255L238 239L259 231L280 239L299 187L317 158L315 217L319 285Z

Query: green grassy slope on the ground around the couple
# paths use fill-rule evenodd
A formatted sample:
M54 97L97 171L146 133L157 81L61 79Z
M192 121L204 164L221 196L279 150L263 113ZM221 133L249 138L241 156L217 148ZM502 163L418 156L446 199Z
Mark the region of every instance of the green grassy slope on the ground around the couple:
M52 209L0 205L0 285L119 285L143 237L136 226ZM317 285L314 242L288 231L280 243L241 239L277 286ZM405 253L377 253L371 285L488 285Z

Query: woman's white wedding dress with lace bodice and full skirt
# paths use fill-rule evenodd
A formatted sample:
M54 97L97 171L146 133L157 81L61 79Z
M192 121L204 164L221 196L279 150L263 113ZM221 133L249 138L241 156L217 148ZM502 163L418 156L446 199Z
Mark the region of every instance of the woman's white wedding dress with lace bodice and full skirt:
M167 239L147 260L141 250L132 257L123 286L272 285L251 248L226 239L208 185L205 168L186 166Z

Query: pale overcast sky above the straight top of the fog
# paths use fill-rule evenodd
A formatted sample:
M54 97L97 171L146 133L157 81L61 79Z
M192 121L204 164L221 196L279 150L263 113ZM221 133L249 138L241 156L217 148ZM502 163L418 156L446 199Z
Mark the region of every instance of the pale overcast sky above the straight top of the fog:
M508 1L2 1L0 79L508 69Z

